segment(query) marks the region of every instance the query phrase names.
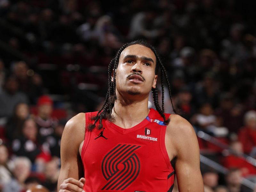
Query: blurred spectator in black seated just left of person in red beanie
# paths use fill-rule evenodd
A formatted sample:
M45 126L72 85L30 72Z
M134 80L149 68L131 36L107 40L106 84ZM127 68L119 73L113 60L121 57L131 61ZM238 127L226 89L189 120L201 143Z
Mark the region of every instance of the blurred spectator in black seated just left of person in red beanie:
M24 121L29 117L29 106L27 103L18 103L12 116L8 119L5 129L6 138L12 142L21 134Z

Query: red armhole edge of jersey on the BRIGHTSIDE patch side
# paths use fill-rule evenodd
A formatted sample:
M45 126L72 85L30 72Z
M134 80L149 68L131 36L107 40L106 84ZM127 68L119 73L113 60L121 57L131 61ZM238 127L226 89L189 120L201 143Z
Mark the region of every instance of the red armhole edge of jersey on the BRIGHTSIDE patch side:
M165 117L169 118L170 115L171 114L166 114ZM169 158L168 153L167 153L167 149L165 147L166 128L167 128L167 126L162 126L161 129L160 129L160 143L159 144L160 144L160 149L161 149L162 155L164 157L164 160L166 162L166 165L167 165L168 169L170 170L170 172L173 172L174 168L172 167L170 158Z

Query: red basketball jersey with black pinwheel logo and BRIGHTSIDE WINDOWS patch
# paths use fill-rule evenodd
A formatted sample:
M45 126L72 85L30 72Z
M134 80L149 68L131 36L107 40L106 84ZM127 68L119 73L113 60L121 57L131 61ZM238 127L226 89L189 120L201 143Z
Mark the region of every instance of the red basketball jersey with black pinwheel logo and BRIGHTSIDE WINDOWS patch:
M85 114L86 126L96 114ZM86 192L172 191L175 174L164 143L166 125L156 110L151 108L146 119L129 129L108 120L102 124L101 130L85 131L81 157Z

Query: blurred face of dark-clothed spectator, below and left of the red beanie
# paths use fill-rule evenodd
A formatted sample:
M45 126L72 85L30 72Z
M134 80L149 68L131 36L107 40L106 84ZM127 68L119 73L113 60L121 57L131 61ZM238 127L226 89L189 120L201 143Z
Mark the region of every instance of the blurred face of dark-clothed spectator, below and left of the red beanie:
M36 122L32 119L28 119L27 121L25 121L22 133L27 139L35 141L37 135Z

